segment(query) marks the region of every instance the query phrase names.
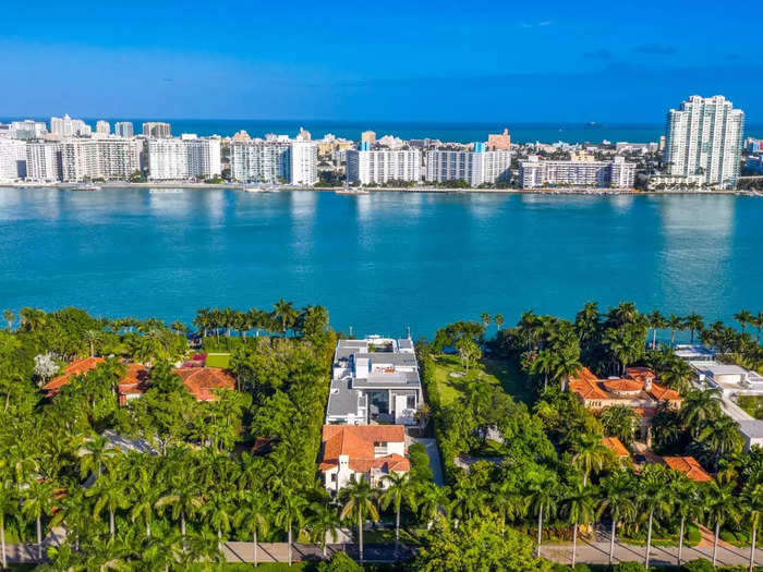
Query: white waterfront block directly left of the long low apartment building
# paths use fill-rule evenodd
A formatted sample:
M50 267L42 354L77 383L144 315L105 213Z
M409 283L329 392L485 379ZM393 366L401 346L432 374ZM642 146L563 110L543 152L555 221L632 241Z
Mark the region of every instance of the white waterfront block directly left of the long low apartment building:
M467 181L472 186L508 181L511 172L511 153L486 151L484 144L475 144L474 151L429 150L425 154L429 182Z

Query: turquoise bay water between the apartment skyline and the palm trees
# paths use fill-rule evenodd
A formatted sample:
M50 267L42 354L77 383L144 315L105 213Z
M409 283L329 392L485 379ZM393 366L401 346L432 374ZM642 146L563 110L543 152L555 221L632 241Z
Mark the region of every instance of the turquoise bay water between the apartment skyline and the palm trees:
M730 320L763 311L762 220L763 200L728 195L0 188L0 309L190 322L284 297L414 337L588 300Z

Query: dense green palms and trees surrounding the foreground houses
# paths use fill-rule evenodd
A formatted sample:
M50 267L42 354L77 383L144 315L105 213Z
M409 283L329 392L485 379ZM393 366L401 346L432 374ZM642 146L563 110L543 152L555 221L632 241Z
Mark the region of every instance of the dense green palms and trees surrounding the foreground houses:
M717 395L693 389L670 349L686 330L722 360L760 368L761 326L750 313L737 316L739 329L628 303L605 313L586 304L573 321L528 312L516 327L486 314L451 324L416 344L428 403L417 416L438 439L446 486L433 483L423 446L413 445L412 471L390 476L386 490L353 483L336 499L316 472L337 339L325 308L282 300L270 311L205 308L190 337L180 322L75 308L4 319L0 530L8 541L38 545L63 526L64 544L47 555L51 570L213 569L226 539L325 546L340 526L354 532L361 555L370 540L396 551L415 545L412 570L562 570L537 558L540 545L572 540L576 555L594 522L643 545L646 563L654 545L694 544L693 523L740 546L760 526L763 451L741 451ZM657 344L658 331L671 343ZM209 365L235 374L235 390L193 399L172 367L199 345L230 354ZM40 387L65 363L93 355L105 362L45 398ZM116 388L131 363L150 377L141 399L120 406ZM637 419L619 407L594 415L562 391L583 365L602 377L655 369L683 398L654 417L656 452L692 454L714 479L621 465L602 437L629 443ZM114 447L114 435L134 442ZM386 530L364 531L380 520ZM336 556L300 569L358 564Z

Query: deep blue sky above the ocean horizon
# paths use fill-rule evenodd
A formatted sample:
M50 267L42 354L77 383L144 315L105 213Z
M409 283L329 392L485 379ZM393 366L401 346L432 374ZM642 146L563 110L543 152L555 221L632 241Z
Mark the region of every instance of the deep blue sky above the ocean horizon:
M516 5L514 5L516 4ZM0 117L661 123L723 94L763 124L763 4L22 2Z

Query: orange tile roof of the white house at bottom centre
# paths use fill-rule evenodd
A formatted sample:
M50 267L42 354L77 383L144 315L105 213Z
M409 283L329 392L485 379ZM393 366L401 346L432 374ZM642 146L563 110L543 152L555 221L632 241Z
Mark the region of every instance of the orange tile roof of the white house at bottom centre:
M339 455L348 455L350 468L367 473L382 468L402 473L411 463L399 454L374 457L374 442L405 442L402 425L324 425L320 471L339 466Z

